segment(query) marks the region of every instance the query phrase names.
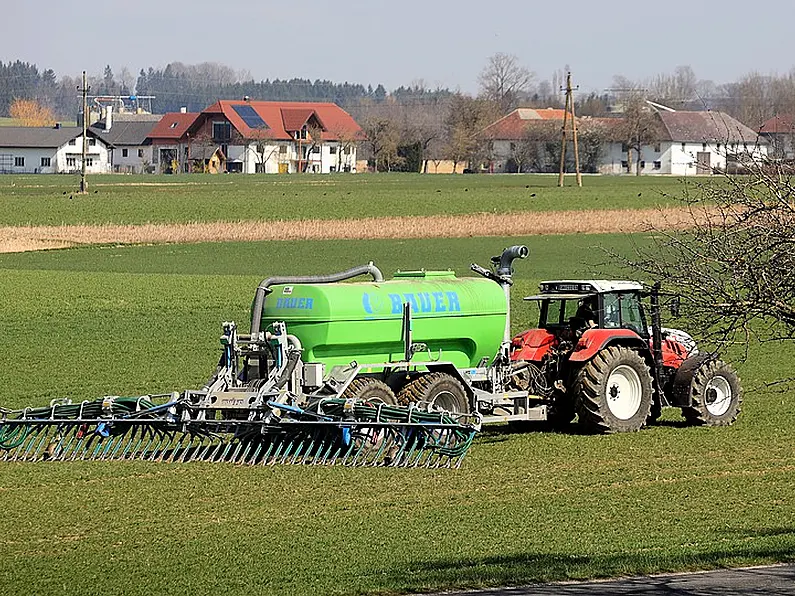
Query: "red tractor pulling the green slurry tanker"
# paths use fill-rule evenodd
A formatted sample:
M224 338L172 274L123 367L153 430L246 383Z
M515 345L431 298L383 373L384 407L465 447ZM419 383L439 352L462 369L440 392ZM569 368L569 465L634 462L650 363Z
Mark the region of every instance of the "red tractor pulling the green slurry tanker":
M681 408L691 424L736 420L737 373L699 352L687 333L661 327L658 285L562 280L540 289L525 298L539 304L538 328L511 343L511 384L544 398L550 422L565 425L579 416L591 432L636 431L665 406Z

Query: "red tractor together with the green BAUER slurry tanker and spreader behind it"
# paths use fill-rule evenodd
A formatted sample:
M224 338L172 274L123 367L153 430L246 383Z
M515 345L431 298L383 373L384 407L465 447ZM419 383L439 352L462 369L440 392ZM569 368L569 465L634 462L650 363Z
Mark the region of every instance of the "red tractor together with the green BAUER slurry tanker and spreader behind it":
M579 416L622 432L664 406L695 424L734 421L739 378L661 327L657 286L544 282L528 298L539 327L512 337L513 263L527 255L509 247L491 269L472 265L476 278L385 281L370 263L265 279L249 332L223 323L204 387L0 409L0 459L457 467L484 423Z

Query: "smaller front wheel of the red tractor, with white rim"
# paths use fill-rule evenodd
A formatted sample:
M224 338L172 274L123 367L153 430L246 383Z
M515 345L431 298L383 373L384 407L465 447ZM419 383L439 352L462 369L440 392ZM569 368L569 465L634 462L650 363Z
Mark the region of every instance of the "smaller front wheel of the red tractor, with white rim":
M691 405L682 408L682 414L693 425L729 426L737 420L743 403L740 377L723 360L706 359L688 374L677 376L674 391L690 396Z

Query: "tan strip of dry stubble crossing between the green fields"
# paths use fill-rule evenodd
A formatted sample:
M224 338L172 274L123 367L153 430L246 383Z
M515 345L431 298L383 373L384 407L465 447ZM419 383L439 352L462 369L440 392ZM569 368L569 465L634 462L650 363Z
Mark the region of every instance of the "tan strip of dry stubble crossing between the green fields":
M242 221L145 225L0 227L0 252L90 244L251 242L258 240L367 240L609 234L681 229L687 209L476 213L451 216L374 217L347 220Z

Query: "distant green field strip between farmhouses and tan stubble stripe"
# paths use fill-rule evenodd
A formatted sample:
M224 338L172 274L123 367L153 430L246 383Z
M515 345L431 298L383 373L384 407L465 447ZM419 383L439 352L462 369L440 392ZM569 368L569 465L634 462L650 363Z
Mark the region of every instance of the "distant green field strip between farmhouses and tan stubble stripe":
M143 224L350 219L506 211L635 209L670 205L683 180L551 175L0 177L0 225Z

